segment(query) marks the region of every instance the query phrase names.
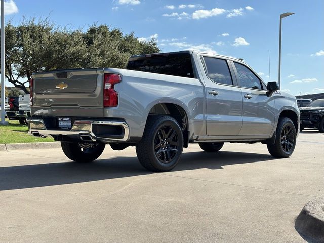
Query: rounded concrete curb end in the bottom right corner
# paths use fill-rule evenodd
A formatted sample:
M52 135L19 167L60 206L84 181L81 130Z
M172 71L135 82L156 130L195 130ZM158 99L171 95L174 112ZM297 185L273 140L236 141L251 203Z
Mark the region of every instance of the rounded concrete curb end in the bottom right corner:
M309 201L295 221L295 229L307 241L324 243L324 198Z

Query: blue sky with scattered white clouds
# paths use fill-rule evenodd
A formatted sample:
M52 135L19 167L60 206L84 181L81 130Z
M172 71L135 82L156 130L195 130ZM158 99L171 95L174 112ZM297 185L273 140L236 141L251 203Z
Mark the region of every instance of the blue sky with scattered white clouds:
M47 17L87 29L94 23L154 38L163 52L199 50L243 58L265 82L278 80L282 19L281 90L324 93L323 0L6 0L5 18ZM270 54L270 55L269 55ZM270 56L270 72L269 72Z

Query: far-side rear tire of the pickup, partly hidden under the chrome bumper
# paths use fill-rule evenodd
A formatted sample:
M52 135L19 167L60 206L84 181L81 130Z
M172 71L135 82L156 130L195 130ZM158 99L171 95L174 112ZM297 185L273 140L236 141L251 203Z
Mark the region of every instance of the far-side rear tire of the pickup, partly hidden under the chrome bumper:
M85 163L96 160L102 154L105 145L104 143L87 144L61 141L61 147L66 157L76 162Z

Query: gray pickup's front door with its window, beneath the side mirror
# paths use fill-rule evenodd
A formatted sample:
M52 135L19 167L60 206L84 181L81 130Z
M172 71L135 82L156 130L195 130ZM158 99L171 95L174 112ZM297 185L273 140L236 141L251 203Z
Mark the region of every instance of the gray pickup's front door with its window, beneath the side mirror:
M265 85L248 66L231 63L243 100L243 125L238 135L270 135L275 117L274 95L266 95Z

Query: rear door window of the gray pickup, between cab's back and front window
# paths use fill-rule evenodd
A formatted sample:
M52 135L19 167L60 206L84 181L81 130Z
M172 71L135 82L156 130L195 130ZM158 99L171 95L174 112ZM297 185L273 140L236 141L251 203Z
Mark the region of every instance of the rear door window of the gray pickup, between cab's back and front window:
M233 85L232 76L226 60L204 57L204 61L206 75L209 79L219 84Z

